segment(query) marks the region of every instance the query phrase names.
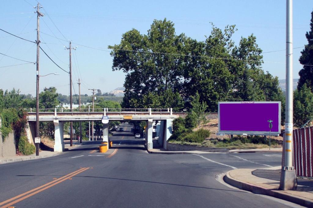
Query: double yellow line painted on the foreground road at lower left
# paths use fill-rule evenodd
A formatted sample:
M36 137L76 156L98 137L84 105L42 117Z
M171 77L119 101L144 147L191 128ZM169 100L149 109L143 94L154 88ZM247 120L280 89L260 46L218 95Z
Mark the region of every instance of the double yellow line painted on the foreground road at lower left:
M52 186L55 186L55 185L65 181L65 180L67 180L67 179L69 179L69 178L71 178L73 176L76 176L77 174L79 174L81 172L84 172L84 171L86 171L88 169L89 169L89 167L84 167L84 168L79 169L77 171L71 172L71 173L67 174L66 176L62 176L62 177L58 178L57 180L51 181L49 183L46 183L46 184L44 184L42 186L39 186L37 188L34 188L34 189L30 190L30 191L26 191L25 193L20 194L18 196L15 196L15 197L13 197L11 199L8 199L6 201L0 202L0 206L5 204L4 206L1 206L0 208L6 208L6 207L11 206L13 204L16 204L16 203L18 203L20 201L23 201L24 199L27 199L30 196L38 194L39 192L44 191L44 190L46 190L46 189L48 189L48 188L50 188Z

